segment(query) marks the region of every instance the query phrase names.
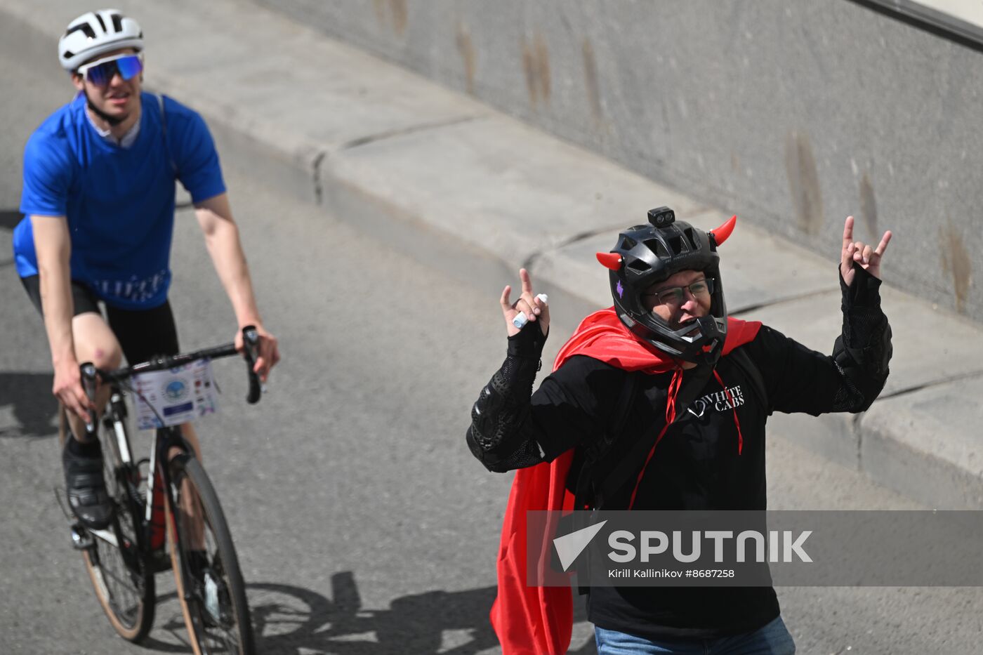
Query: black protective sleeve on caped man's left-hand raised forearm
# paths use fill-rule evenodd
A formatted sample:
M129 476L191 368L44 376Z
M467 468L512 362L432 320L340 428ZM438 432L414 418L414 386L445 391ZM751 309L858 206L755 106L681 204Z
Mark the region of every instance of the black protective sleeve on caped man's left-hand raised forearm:
M508 337L505 361L471 408L468 447L490 471L503 473L544 461L542 449L523 436L522 427L546 340L536 323Z

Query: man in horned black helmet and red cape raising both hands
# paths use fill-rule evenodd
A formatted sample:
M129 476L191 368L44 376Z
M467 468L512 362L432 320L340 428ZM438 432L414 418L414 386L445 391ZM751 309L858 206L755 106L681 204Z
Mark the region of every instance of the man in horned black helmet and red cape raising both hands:
M652 441L651 447L643 444L648 455L637 462L634 484L625 484L621 496L607 499L605 508L763 509L768 414L860 411L883 388L891 330L877 294L880 259L891 233L871 249L852 241L852 217L847 218L839 267L843 332L833 356L827 356L760 323L727 317L717 247L734 222L731 218L703 232L675 221L671 209L658 208L649 212L648 225L622 232L610 253L598 255L609 269L614 306L577 327L535 395L531 387L549 333L549 305L545 296L533 295L525 269L519 273L522 296L517 302L509 302L510 287L503 290L508 357L475 403L467 437L490 470L517 469L502 526L498 596L491 613L506 655L552 655L569 646L571 589L527 584L528 565L537 570L549 566L550 540L538 535L534 543L544 547L538 562L529 563L526 514L574 508L567 486L576 447L597 440L597 433L619 429L613 424L627 426L614 437L634 433L639 443ZM748 392L753 375L732 361L738 348L758 369L764 392ZM703 400L726 397L716 403L716 412L705 411L714 405L707 402L699 413L677 412L685 372L694 369L706 375L686 379L704 386ZM626 408L614 410L630 419L622 424L612 420L612 408L622 407L616 400L619 389L626 376L635 374L642 376L641 391ZM652 436L646 437L646 430ZM663 447L660 452L665 452L655 457L664 437L669 449ZM630 440L615 443L625 441ZM702 468L687 468L689 459L699 456L686 450L689 443L714 448L712 478L693 479L708 475L701 473L708 467L701 462ZM707 491L721 487L721 480L727 484L720 491ZM676 488L690 483L692 488ZM646 595L645 590L592 589L588 618L596 625L599 653L625 647L677 652L679 644L734 639L742 644L739 650L794 652L774 589L669 591Z

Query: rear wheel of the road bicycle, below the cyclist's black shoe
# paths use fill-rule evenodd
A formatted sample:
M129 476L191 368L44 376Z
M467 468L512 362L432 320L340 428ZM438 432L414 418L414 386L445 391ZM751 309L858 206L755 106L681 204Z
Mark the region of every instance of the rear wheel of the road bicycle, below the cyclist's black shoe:
M59 421L59 443L65 445L69 434L68 418L62 409ZM140 508L134 505L131 490L123 479L126 467L116 457L116 449L105 443L114 436L100 430L103 442L103 475L106 491L116 505L112 531L117 544L129 549L125 554L118 545L91 535L92 545L82 551L88 579L95 597L102 606L109 624L128 641L139 643L153 625L156 589L153 573L146 566L137 539L141 525Z

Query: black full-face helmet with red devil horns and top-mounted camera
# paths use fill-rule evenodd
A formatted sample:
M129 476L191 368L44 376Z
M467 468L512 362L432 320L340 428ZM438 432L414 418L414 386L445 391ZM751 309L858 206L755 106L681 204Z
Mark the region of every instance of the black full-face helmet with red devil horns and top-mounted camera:
M610 269L611 296L621 322L672 357L695 364L716 364L727 332L717 246L730 235L736 220L733 216L716 230L704 232L676 221L672 209L661 207L649 211L648 224L621 232L610 253L598 253L598 260ZM682 270L702 270L713 280L710 313L672 327L646 309L642 294Z

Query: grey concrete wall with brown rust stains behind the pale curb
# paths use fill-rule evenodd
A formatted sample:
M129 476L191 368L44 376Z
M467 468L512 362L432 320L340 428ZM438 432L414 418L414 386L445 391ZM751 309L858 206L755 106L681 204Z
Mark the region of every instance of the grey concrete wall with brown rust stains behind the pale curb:
M892 229L886 279L983 321L979 52L847 0L260 2L824 256Z

